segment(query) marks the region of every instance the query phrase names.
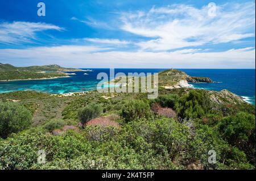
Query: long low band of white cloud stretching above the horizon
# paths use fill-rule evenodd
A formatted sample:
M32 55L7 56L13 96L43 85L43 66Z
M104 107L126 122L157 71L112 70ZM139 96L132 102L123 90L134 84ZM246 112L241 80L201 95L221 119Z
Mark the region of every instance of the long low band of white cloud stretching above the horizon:
M104 50L103 52L100 52ZM255 48L223 52L200 52L199 49L174 52L105 51L88 46L0 49L2 63L25 65L60 64L80 68L254 68Z

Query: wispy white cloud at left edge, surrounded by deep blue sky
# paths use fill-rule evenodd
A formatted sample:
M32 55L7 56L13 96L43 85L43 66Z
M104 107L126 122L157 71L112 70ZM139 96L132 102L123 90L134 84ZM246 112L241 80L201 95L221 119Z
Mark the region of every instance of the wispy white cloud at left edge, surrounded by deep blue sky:
M46 30L61 31L63 28L46 23L13 22L0 24L0 43L19 44L36 40L36 32Z

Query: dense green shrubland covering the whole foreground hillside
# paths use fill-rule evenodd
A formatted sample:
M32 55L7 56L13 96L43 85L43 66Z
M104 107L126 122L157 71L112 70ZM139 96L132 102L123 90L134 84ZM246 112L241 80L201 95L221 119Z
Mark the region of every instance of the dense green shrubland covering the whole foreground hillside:
M99 93L59 98L67 101L62 119L26 124L1 136L0 169L255 169L254 106L216 104L205 90L159 94L154 100L145 99L146 94L105 99ZM9 98L3 96L1 100ZM30 106L21 100L1 103L0 115L5 115L2 110L20 109L22 119L30 118ZM85 124L95 117L100 123L110 115L118 126ZM11 111L9 116L15 118ZM0 120L2 125L6 117ZM67 125L77 129L66 130ZM56 129L60 132L53 134ZM46 152L46 163L37 162L38 150ZM216 151L216 164L208 163L209 150Z

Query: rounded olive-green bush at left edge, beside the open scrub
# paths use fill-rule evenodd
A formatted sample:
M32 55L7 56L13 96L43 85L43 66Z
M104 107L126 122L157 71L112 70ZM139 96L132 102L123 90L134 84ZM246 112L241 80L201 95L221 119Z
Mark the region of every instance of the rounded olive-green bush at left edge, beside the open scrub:
M16 103L0 103L0 137L7 138L30 126L32 114Z

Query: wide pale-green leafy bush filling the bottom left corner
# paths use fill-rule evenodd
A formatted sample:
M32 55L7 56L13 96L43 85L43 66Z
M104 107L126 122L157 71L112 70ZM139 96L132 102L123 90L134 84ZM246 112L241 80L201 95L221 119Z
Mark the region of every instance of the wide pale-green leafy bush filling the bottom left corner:
M92 150L82 134L67 131L61 136L43 133L19 133L0 141L0 169L40 169L38 151L46 153L46 164L65 160L67 162ZM22 156L21 156L22 155ZM65 167L59 163L57 169ZM51 169L47 167L45 169Z

